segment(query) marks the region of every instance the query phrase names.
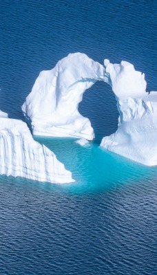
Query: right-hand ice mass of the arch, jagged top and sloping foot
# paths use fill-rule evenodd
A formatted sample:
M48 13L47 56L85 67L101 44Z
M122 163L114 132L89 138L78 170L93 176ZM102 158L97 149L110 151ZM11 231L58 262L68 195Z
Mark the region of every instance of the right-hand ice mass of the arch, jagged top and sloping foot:
M144 75L133 65L106 65L119 111L118 130L103 137L107 150L147 166L157 165L157 92L145 92Z

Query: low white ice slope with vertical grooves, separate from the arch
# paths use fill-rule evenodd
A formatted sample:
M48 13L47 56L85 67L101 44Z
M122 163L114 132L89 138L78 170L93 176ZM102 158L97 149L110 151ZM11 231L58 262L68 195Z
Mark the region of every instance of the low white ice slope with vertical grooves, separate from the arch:
M25 122L4 118L4 114L0 113L0 175L52 183L74 181L56 155L33 140Z

